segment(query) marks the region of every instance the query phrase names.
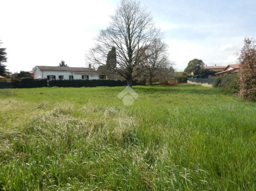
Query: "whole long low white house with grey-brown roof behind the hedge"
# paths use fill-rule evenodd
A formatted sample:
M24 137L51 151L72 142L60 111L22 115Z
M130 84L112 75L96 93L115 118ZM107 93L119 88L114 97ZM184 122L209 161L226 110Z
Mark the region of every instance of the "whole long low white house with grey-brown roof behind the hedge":
M36 66L33 73L34 79L106 79L106 75L102 75L92 68Z

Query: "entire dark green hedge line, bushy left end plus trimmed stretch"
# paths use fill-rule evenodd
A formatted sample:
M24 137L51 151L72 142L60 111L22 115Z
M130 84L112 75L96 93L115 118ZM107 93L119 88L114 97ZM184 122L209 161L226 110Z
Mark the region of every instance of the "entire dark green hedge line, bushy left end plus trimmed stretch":
M132 85L145 85L145 81L132 81ZM36 88L36 87L98 87L98 86L125 86L125 80L50 80L47 79L33 79L32 77L25 77L22 79L15 79L12 81L14 88Z

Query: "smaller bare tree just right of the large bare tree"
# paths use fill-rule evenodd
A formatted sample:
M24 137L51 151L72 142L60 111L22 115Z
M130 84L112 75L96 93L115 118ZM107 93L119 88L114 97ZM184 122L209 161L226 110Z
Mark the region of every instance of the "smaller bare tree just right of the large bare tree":
M168 45L161 40L154 40L154 43L145 51L146 58L143 62L144 74L148 77L150 85L158 71L167 69L171 65L168 59Z

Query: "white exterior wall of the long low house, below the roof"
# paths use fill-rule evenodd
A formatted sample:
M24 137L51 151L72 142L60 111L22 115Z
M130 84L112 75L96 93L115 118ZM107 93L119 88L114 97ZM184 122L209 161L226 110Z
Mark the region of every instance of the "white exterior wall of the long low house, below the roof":
M56 79L59 79L59 75L63 75L64 79L69 79L69 76L72 75L74 79L82 79L82 75L89 75L89 80L100 79L100 75L97 74L75 74L68 71L40 71L36 69L35 79L47 78L48 75L55 75Z

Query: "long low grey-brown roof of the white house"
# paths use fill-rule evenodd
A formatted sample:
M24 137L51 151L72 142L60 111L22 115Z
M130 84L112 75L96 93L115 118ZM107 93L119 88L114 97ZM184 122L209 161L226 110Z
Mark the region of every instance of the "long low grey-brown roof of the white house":
M62 67L62 66L36 66L38 69L45 71L70 71L70 72L97 72L92 68L82 67Z

